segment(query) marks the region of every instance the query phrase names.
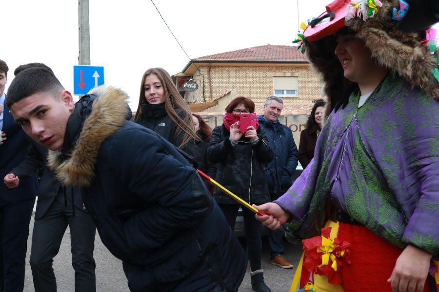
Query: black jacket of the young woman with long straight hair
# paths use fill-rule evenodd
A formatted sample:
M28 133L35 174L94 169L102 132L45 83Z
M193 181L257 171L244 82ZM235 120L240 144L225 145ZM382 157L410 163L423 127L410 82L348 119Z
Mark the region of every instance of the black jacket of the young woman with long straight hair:
M181 109L175 109L177 114L182 118L184 111ZM177 125L169 117L165 109L165 104L142 104L142 114L139 115L136 121L137 124L142 125L145 128L153 130L169 142L172 145L179 147L183 141L184 132L181 131L178 136L175 135ZM185 146L180 148L186 154L193 159L196 155L195 141L189 141Z

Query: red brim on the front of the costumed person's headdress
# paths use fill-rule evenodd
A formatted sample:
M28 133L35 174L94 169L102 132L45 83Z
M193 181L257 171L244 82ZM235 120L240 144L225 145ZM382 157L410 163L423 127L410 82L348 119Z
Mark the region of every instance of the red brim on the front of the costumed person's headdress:
M329 18L322 19L314 27L308 25L308 27L303 32L303 36L307 41L317 41L323 37L328 37L339 29L344 27L344 18L347 15L347 6L350 5L350 0L335 0L326 6L326 12L319 15L321 18L330 12L334 12L335 17L330 20Z

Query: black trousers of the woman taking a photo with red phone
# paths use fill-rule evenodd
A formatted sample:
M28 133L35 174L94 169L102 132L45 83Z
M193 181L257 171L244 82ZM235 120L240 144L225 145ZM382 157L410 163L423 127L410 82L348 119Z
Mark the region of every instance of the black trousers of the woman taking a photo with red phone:
M229 222L232 230L235 229L235 221L238 215L239 205L234 204L218 204L224 217ZM242 208L244 218L245 238L247 239L247 254L250 261L252 271L260 270L260 255L262 250L262 237L260 228L262 223L255 218L255 213Z

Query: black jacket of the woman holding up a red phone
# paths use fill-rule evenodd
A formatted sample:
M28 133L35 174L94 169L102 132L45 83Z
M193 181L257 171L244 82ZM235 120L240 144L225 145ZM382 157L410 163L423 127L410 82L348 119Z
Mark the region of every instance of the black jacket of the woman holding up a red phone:
M258 128L259 142L250 143L242 137L237 146L230 143L230 132L222 125L212 131L207 157L217 163L216 181L251 204L262 204L270 200L263 164L273 160L273 150L265 142L263 129ZM223 204L238 204L219 189L215 189L215 200Z

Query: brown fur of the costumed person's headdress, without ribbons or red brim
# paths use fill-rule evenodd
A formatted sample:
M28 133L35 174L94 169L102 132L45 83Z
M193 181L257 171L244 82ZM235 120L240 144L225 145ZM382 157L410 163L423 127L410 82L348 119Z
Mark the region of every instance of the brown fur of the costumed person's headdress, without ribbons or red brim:
M345 26L365 41L379 64L402 76L412 87L419 87L430 97L439 100L439 82L432 73L436 58L421 41L425 31L404 33L393 20L393 8L399 9L399 0L381 0L382 7L373 18L364 21L352 18ZM341 64L334 55L335 37L324 37L315 42L304 41L306 54L314 68L321 73L328 96L327 109L350 93L355 84L344 78ZM329 111L330 112L330 111Z

